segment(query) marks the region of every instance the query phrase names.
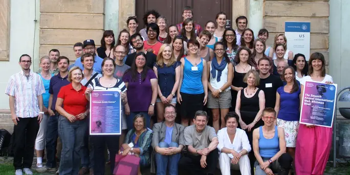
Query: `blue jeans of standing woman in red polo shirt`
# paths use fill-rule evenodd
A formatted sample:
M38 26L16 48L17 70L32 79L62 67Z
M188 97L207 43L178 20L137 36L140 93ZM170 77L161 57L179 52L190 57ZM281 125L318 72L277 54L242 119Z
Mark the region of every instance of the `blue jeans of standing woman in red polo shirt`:
M58 118L58 134L62 140L60 175L78 174L80 167L80 149L84 144L84 136L88 124L87 118L70 122L62 115Z

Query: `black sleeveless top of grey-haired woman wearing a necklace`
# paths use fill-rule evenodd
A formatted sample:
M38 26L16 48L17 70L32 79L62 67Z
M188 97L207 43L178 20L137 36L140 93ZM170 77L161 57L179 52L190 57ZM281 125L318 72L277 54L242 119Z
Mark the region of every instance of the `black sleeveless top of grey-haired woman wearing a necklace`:
M260 89L257 89L255 94L248 98L244 94L244 89L240 90L240 114L245 123L253 122L259 112L259 92Z

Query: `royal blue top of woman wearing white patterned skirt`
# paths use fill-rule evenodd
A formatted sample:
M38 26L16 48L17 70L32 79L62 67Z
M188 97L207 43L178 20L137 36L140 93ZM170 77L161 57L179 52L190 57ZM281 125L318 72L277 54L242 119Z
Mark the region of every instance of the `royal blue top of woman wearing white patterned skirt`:
M286 121L299 121L299 107L300 107L300 86L296 92L289 93L284 90L285 86L277 89L280 96L280 107L278 111L278 118Z

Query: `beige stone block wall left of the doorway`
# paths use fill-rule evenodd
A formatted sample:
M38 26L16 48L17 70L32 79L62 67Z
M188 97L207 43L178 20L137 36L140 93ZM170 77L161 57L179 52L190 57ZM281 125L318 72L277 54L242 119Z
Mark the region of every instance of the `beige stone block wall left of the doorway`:
M40 57L57 48L75 61L73 45L86 39L100 45L104 27L103 0L41 0Z

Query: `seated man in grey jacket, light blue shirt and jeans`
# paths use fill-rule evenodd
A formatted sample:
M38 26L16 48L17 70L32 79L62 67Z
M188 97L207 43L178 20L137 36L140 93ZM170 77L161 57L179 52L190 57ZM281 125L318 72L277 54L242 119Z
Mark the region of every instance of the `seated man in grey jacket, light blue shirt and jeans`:
M185 146L184 126L175 123L176 109L171 104L164 107L165 121L155 123L152 131L152 147L155 150L156 162L151 162L151 172L157 174L178 174L178 163L181 151ZM167 173L168 169L168 173Z

